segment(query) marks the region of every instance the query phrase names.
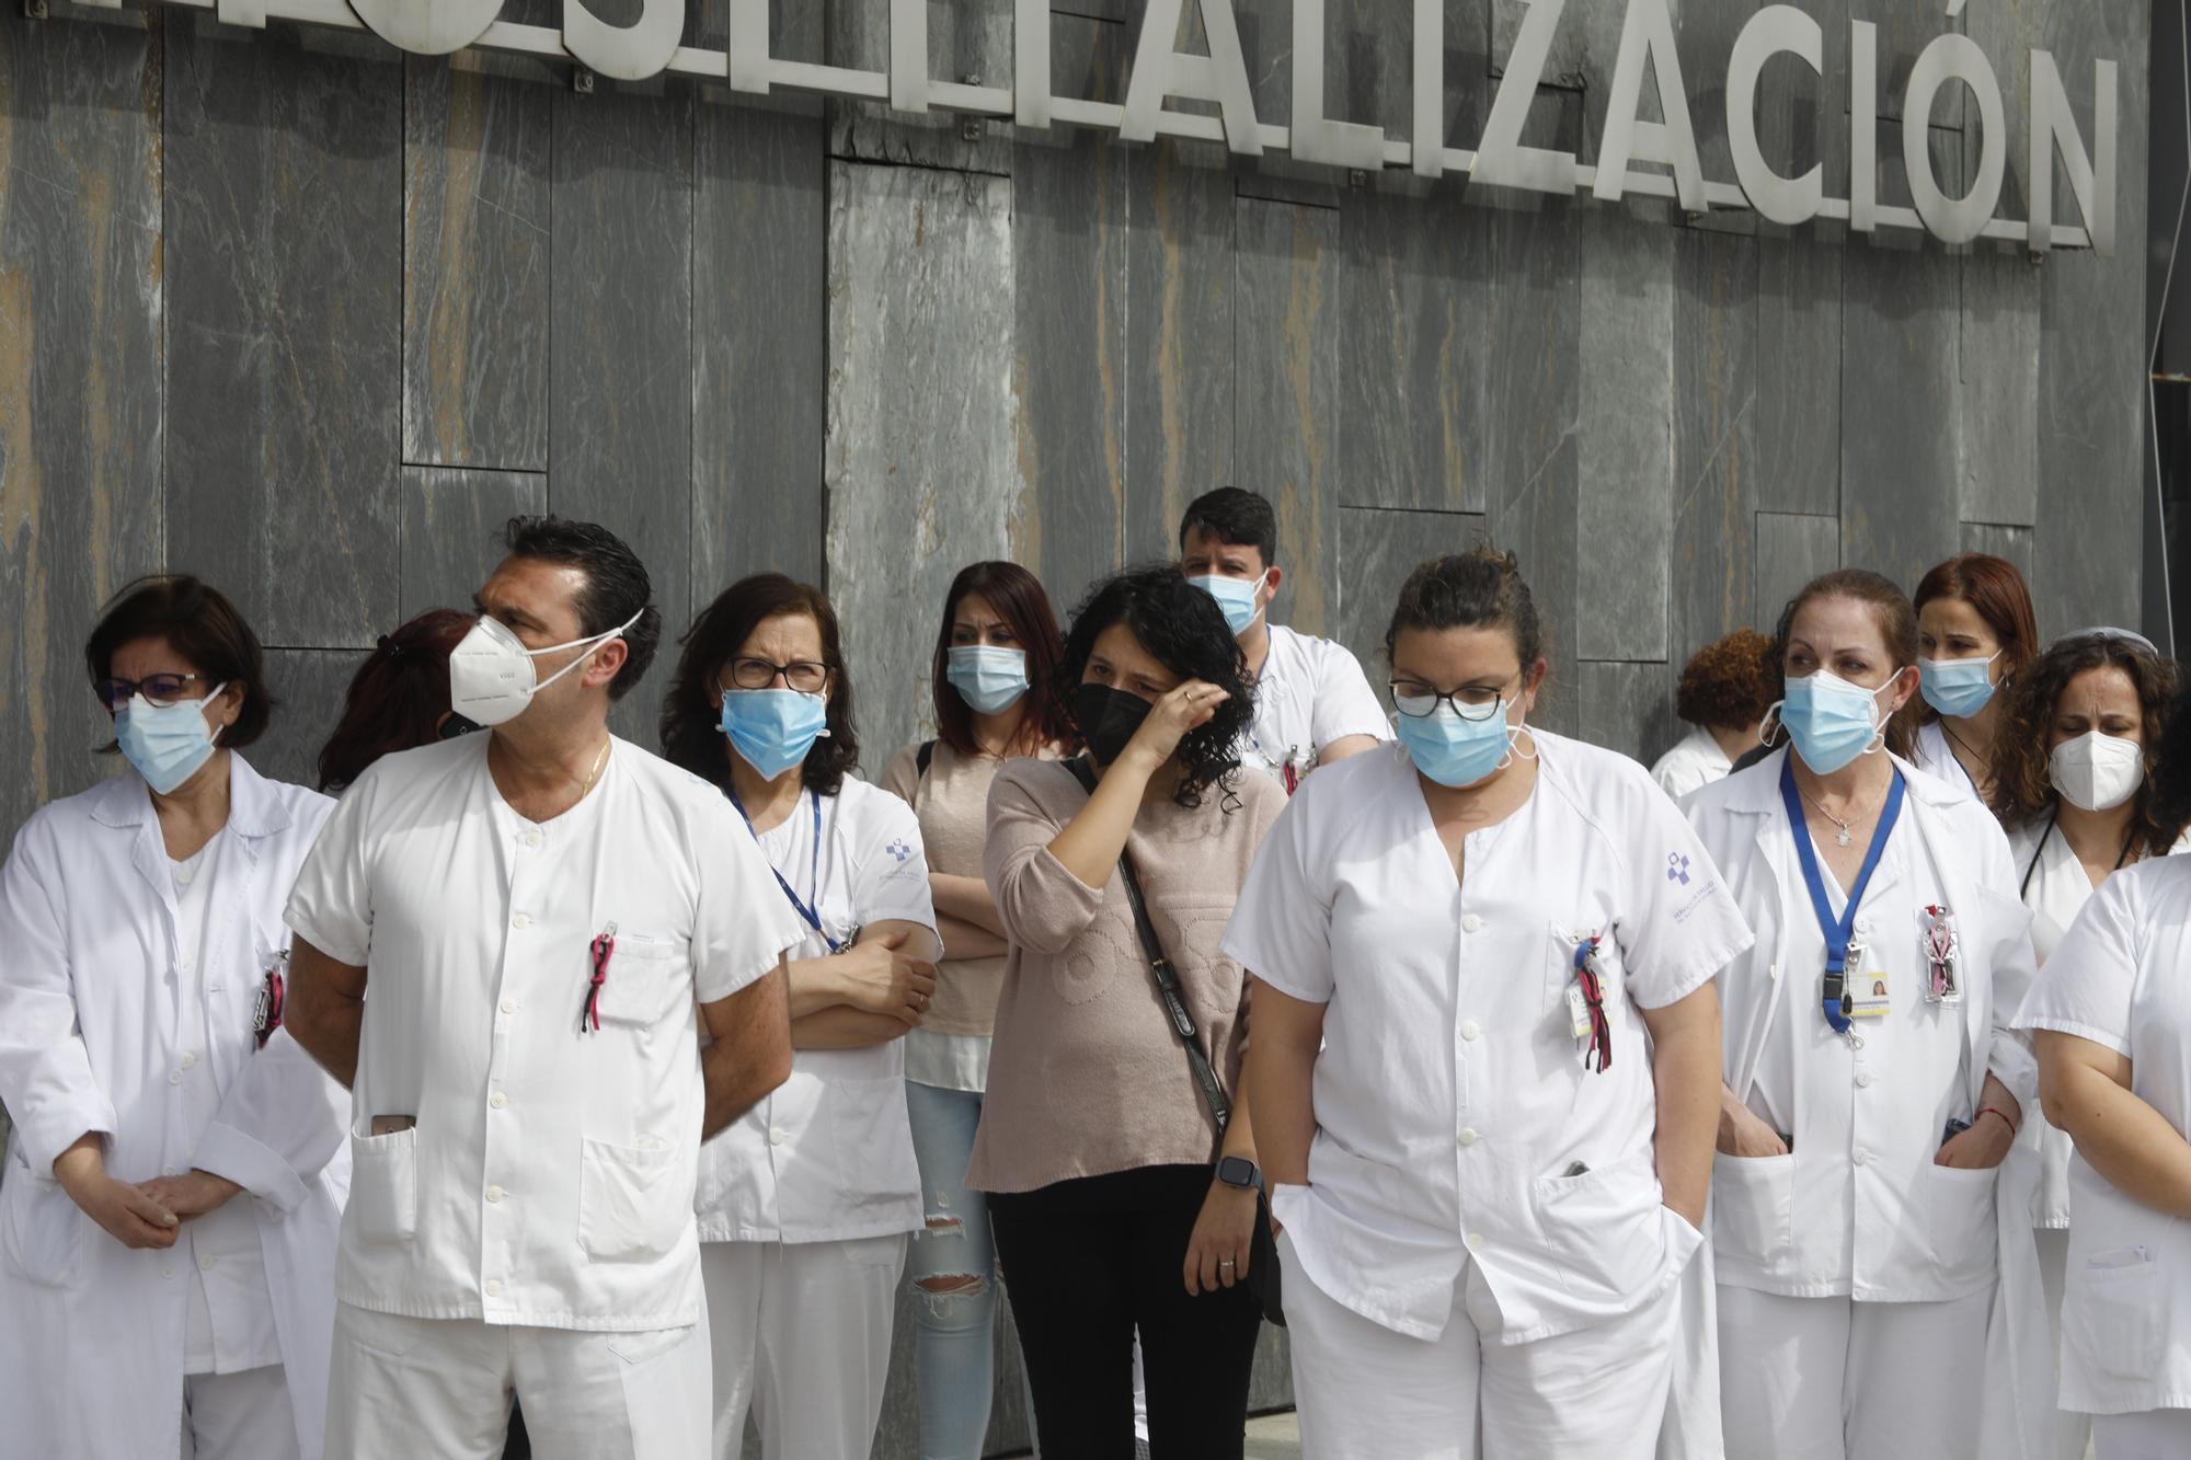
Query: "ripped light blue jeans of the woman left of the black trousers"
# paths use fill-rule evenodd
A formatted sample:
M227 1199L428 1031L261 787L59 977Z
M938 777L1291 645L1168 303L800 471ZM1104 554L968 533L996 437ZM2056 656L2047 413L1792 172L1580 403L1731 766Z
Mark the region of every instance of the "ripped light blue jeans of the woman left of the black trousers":
M997 1243L988 1199L966 1190L982 1092L907 1081L905 1109L927 1210L905 1265L918 1298L920 1460L979 1460L997 1388Z

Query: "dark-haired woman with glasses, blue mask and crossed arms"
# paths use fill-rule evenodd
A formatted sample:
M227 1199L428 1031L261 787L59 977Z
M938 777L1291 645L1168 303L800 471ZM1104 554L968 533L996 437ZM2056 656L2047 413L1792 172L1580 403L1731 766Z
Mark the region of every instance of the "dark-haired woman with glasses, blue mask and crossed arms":
M920 822L852 778L852 680L822 590L732 583L684 636L662 754L738 807L804 940L791 1079L701 1147L714 1453L752 1410L765 1460L865 1456L883 1412L920 1171L905 1035L936 993Z

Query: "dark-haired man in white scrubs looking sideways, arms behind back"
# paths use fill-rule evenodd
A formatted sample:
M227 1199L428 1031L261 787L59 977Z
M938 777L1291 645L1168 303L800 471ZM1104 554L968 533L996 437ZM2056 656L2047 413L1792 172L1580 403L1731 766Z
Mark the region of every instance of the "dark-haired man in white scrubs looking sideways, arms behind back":
M353 1092L326 1456L486 1453L515 1394L543 1458L703 1460L699 1144L791 1072L800 927L723 796L609 734L640 561L506 541L449 658L489 732L366 769L287 910L287 1028Z

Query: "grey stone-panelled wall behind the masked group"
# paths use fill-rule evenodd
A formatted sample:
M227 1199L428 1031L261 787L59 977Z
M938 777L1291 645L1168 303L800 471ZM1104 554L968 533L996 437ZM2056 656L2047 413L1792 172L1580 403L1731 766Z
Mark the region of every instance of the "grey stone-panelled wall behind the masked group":
M773 9L778 53L881 64L883 0ZM1117 101L1142 4L1052 9L1058 90ZM1238 9L1282 121L1290 7ZM1521 0L1446 9L1468 145ZM1678 4L1713 178L1753 9ZM1540 717L1639 756L1676 732L1691 649L1836 563L1908 583L1981 546L2024 563L2046 631L2130 618L2147 0L1808 9L1836 79L1847 20L1880 22L1882 202L1906 202L1893 99L1939 28L1968 28L2011 96L2018 215L2024 53L2062 57L2079 116L2090 59L2119 59L2123 256L1464 202L1455 180L1347 186L1196 145L966 138L684 81L578 94L324 31L9 4L0 826L101 774L79 645L129 577L191 568L245 605L287 697L254 758L307 778L357 655L464 603L513 511L624 533L670 620L762 566L819 579L870 767L922 732L964 561L1019 557L1067 605L1168 552L1218 482L1280 504L1280 616L1365 655L1418 559L1514 548L1553 625ZM719 44L723 11L695 0L692 31ZM1404 129L1398 7L1330 11L1332 114ZM1619 7L1569 11L1532 140L1593 160ZM1008 15L931 0L933 75L1008 75ZM1775 79L1766 145L1836 175L1845 92L1799 81ZM1976 132L1957 107L1928 118L1950 180ZM620 710L642 741L659 677ZM879 1456L911 1453L909 1364L901 1344ZM1258 1399L1284 1399L1275 1348ZM1008 1370L993 1438L1023 1434Z

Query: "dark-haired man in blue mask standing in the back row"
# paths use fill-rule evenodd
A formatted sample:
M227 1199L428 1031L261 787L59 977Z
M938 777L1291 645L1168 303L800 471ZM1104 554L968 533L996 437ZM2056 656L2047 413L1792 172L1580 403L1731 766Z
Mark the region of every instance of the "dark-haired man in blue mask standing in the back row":
M1255 719L1240 741L1242 765L1271 772L1290 796L1317 765L1391 739L1391 721L1345 645L1269 623L1271 601L1286 579L1269 500L1240 487L1196 498L1179 522L1179 568L1225 609L1255 675Z

